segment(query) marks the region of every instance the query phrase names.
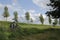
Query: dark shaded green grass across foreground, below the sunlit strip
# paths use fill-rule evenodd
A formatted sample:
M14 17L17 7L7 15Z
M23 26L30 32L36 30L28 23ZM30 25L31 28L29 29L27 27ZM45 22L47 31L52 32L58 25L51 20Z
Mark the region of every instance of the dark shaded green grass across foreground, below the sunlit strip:
M10 28L6 29L4 27L0 27L0 40L22 40L24 37L29 37L34 34L42 34L42 36L49 34L44 40L60 40L60 29L49 28L40 30L37 28L18 27L11 30Z

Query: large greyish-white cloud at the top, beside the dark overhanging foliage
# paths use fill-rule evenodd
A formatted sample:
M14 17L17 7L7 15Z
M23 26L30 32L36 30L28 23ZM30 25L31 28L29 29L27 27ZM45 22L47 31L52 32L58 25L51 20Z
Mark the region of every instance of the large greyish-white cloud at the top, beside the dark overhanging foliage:
M48 7L47 4L50 3L49 0L32 0L34 4L37 6L43 8L43 9L49 9L51 7Z

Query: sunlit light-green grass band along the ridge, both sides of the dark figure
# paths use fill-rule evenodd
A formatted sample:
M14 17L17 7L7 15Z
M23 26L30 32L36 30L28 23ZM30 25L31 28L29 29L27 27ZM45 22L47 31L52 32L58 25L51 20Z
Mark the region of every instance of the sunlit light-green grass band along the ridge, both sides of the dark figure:
M0 26L9 27L11 22L0 21ZM22 28L38 28L38 29L48 29L48 28L60 28L59 26L50 26L50 25L41 25L41 24L26 24L19 23L19 26Z

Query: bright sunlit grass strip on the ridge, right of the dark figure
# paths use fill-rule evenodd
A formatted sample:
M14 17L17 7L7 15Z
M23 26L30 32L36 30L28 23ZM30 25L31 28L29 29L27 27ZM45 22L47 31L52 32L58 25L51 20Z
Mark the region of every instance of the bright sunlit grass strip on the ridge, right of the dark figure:
M20 24L23 28L38 28L38 29L48 29L48 28L60 28L59 26L53 27L52 25L41 25L41 24Z

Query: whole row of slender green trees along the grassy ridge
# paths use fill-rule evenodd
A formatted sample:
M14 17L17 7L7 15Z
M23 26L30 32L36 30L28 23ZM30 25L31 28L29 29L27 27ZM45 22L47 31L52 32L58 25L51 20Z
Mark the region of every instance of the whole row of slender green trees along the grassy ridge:
M4 17L4 18L6 19L6 21L7 21L7 18L8 18L9 16L10 16L10 14L9 14L9 11L8 11L8 7L5 6L5 8L4 8L4 13L3 13L3 17ZM26 13L25 13L25 18L26 18L26 20L27 20L28 23L29 23L29 20L30 20L31 22L33 22L33 19L30 18L30 13L29 13L29 12L26 12ZM17 11L14 12L14 18L13 18L13 20L15 20L16 22L18 22L18 13L17 13ZM41 22L41 24L44 24L44 17L43 17L42 14L39 16L39 21ZM52 23L52 19L51 19L50 16L48 16L48 21L49 21L49 24ZM55 19L55 23L57 24L57 19Z

